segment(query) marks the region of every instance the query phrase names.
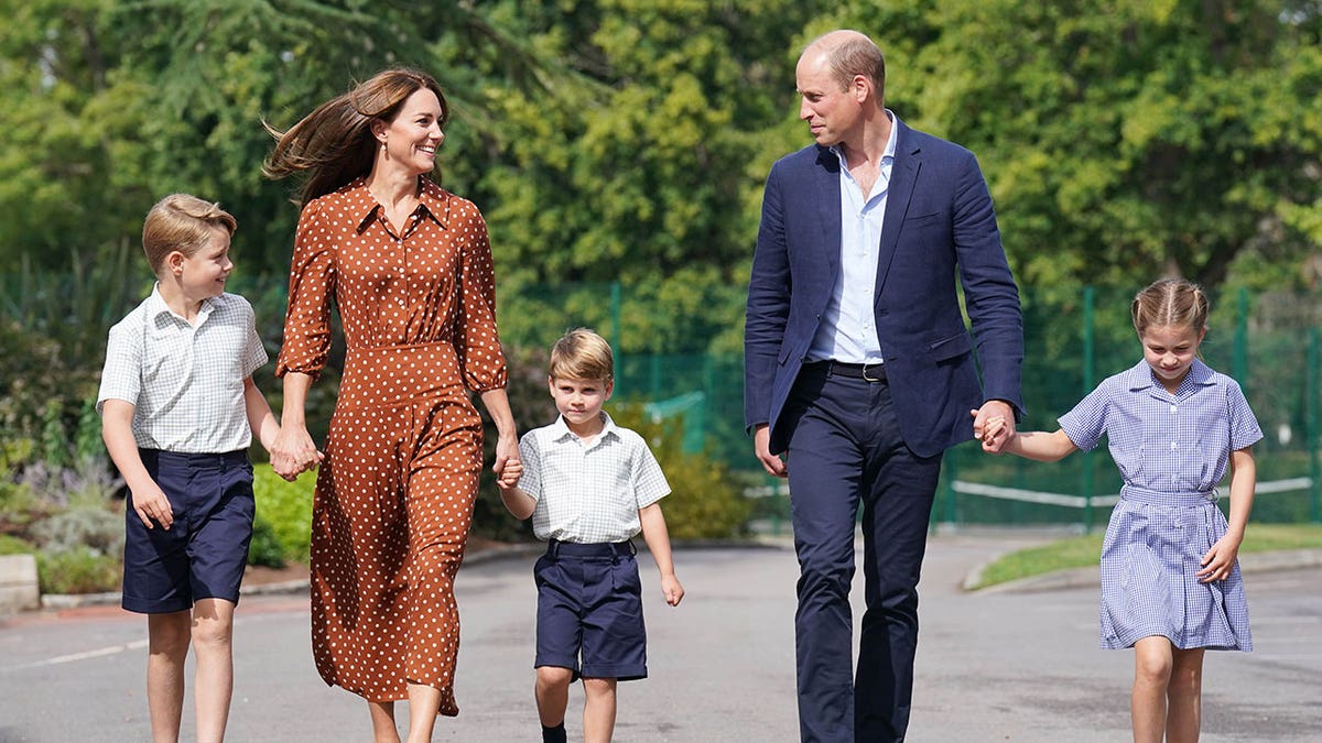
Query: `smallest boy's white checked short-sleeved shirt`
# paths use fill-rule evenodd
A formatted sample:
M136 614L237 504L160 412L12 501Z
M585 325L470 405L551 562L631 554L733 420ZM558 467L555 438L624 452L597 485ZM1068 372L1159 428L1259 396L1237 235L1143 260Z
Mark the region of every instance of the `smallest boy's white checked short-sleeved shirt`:
M605 427L587 444L563 416L520 440L518 487L537 500L538 539L623 542L642 530L639 509L670 493L642 436L620 428L604 411L602 419Z

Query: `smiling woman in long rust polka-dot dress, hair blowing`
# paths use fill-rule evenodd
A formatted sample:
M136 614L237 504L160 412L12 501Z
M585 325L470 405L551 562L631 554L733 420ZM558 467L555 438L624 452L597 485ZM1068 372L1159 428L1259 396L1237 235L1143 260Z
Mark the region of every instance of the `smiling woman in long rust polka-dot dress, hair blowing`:
M264 172L307 172L276 375L284 477L323 461L304 402L327 364L330 305L345 368L312 508L309 567L317 670L368 701L375 739L410 740L438 711L459 714L453 578L467 546L483 423L496 423L497 475L517 461L496 334L486 223L428 177L444 140L446 97L430 75L382 71L278 136Z

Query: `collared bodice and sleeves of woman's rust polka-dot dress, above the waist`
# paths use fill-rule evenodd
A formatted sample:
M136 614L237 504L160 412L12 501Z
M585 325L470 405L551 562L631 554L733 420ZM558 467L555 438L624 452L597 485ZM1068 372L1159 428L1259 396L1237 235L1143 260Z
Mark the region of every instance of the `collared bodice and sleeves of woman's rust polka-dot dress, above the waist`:
M349 353L449 344L440 377L475 393L505 386L486 222L472 201L418 182L418 208L398 230L361 177L303 208L276 377L321 372L333 304Z

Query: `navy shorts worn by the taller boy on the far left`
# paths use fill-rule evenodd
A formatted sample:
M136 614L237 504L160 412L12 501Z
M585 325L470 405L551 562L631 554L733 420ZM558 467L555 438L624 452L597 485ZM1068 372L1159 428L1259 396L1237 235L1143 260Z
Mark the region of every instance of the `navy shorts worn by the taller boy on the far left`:
M175 512L169 531L143 526L126 504L123 607L139 613L185 611L201 599L239 600L253 541L253 464L246 451L177 453L139 450Z

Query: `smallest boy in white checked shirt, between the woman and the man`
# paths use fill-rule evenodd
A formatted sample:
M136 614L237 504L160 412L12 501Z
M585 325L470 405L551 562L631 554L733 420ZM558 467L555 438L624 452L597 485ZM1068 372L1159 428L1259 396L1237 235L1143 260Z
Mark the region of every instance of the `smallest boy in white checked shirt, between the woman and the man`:
M531 516L533 531L549 541L533 570L543 742L566 740L574 680L583 680L583 738L595 743L611 740L615 730L616 682L648 676L642 586L629 542L640 530L666 603L683 598L657 502L670 487L646 442L602 411L613 366L611 345L591 331L557 341L547 383L561 416L524 435L522 461L506 465L500 480L509 512Z

